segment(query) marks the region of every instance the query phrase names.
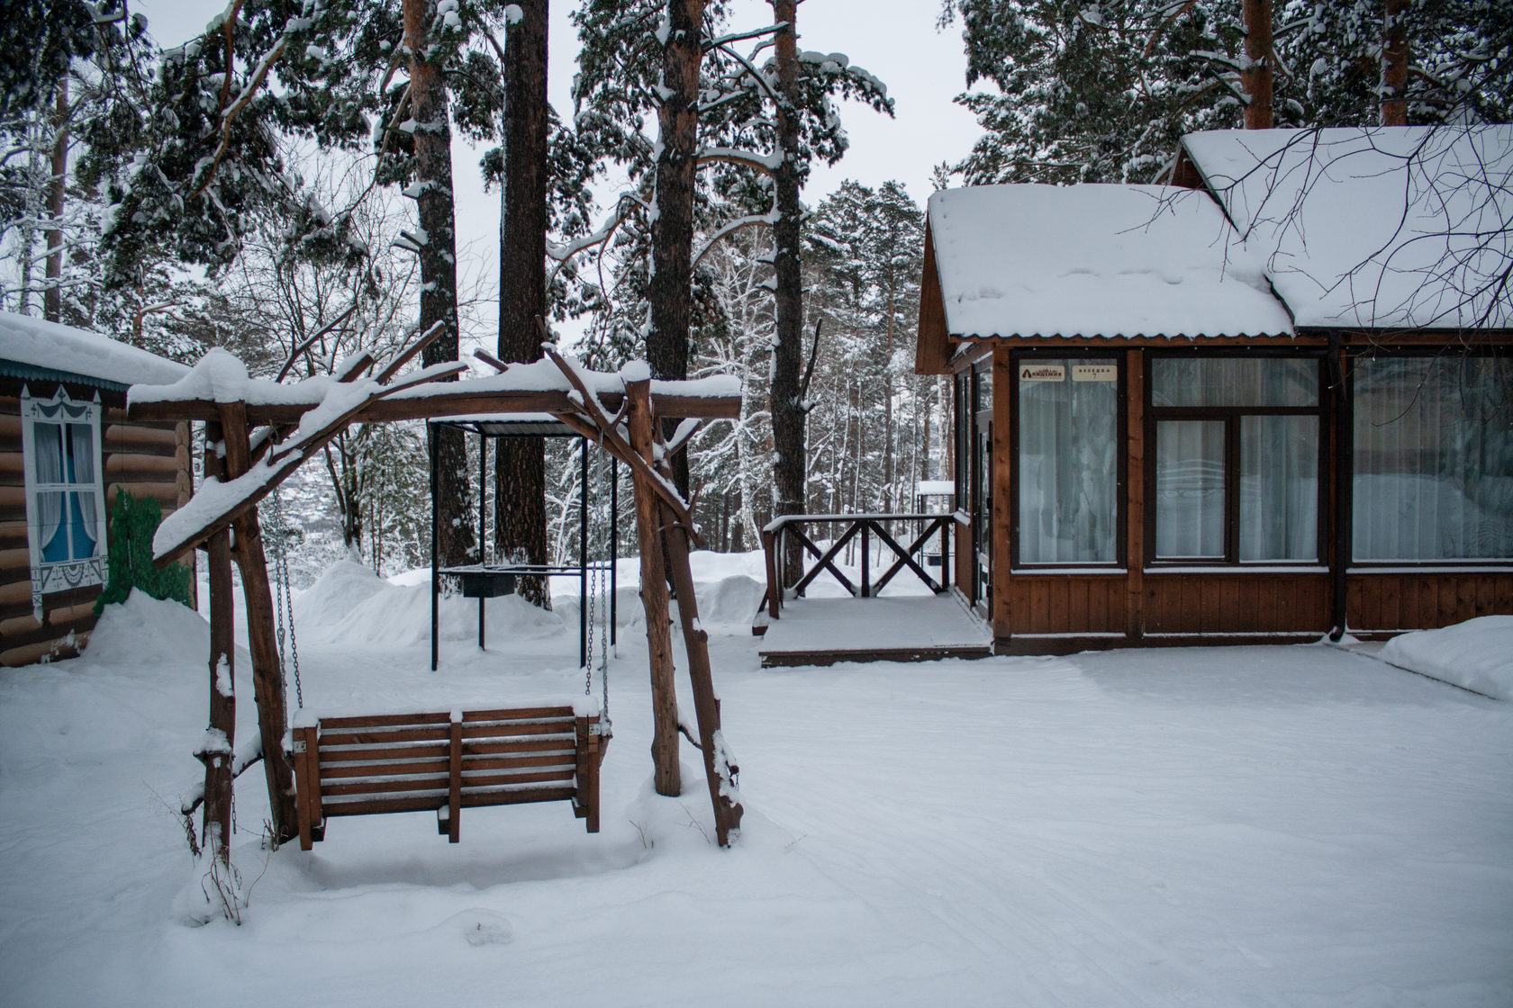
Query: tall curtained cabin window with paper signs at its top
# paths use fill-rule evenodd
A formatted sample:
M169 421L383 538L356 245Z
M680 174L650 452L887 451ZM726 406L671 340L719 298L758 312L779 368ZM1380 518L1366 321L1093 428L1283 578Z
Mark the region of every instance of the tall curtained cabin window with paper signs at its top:
M1118 361L1020 358L1015 378L1018 562L1118 562Z

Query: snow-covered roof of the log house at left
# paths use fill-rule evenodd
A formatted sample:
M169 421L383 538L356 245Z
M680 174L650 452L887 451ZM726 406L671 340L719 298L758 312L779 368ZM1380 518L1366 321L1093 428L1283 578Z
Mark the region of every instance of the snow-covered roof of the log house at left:
M179 381L189 369L100 332L0 311L0 373L83 378L124 391L133 382Z

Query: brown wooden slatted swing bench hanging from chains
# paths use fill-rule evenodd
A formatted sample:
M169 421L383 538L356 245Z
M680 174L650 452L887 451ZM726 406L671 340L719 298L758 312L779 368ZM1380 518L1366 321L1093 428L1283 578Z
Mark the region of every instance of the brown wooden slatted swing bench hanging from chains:
M598 715L561 706L321 718L292 737L306 851L333 816L434 810L437 831L457 843L463 809L531 801L570 801L599 831L608 736Z

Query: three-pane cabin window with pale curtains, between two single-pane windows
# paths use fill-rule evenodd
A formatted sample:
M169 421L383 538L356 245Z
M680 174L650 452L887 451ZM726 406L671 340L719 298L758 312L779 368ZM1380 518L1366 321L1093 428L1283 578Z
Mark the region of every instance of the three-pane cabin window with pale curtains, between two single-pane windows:
M1157 561L1319 558L1319 363L1151 360L1151 523Z

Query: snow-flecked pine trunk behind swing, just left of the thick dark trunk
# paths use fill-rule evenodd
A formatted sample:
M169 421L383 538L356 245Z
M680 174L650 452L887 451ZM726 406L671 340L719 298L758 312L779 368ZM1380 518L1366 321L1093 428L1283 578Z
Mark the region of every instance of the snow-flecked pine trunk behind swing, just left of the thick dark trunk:
M415 128L415 175L421 184L421 331L440 322L440 339L422 351L427 364L457 360L457 234L452 222L452 131L446 112L446 79L428 62L434 5L404 0L404 45L410 54L410 115ZM454 379L455 381L455 379ZM439 500L436 543L440 562L466 564L477 553L469 488L468 443L455 428L436 438Z

